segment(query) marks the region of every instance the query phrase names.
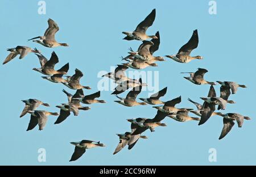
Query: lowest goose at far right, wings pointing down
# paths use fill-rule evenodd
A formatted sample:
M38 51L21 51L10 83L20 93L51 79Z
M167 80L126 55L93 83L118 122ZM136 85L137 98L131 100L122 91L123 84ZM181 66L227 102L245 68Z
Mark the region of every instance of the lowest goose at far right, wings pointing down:
M239 113L226 113L221 115L223 117L223 128L221 130L220 137L218 138L221 140L230 132L232 127L234 126L234 120L237 121L237 125L239 128L243 125L243 119L251 120L250 117L242 116Z

